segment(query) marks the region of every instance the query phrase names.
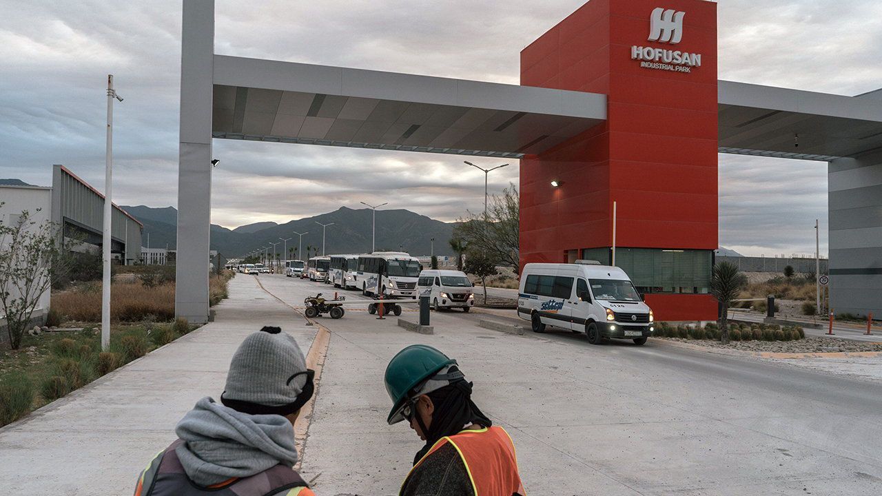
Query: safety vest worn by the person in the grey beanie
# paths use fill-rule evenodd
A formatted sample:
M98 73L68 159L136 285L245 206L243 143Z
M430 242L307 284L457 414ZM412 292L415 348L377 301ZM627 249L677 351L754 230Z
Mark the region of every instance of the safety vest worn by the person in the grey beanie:
M182 443L176 440L153 458L138 477L135 496L315 496L297 472L281 464L251 477L199 487L177 458L175 448Z

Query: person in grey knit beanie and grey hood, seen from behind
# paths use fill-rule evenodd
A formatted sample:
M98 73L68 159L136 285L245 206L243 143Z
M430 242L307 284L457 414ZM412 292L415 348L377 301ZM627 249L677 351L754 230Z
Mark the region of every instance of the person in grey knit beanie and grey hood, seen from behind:
M294 423L314 392L294 337L263 327L235 350L221 403L196 403L178 440L141 472L135 496L314 496L293 467Z

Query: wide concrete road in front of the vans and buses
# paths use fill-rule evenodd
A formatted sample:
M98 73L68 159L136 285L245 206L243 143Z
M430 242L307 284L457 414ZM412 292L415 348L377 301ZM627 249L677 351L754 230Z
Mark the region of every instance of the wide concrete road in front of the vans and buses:
M291 302L315 286L261 281ZM570 331L476 327L486 317L433 312L434 335L364 312L320 319L333 334L303 465L317 492L397 492L421 441L385 425L382 377L398 350L423 342L475 381L475 402L512 434L529 493L882 493L878 383L656 340L591 346Z

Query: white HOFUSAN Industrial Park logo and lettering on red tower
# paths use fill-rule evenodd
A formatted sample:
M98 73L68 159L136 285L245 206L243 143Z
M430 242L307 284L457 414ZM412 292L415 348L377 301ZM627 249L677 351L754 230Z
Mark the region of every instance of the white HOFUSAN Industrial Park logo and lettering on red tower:
M649 16L649 38L676 45L683 39L683 18L686 12L656 7ZM683 50L662 49L658 47L631 47L631 59L639 60L640 67L662 71L691 72L693 67L701 66L701 54Z

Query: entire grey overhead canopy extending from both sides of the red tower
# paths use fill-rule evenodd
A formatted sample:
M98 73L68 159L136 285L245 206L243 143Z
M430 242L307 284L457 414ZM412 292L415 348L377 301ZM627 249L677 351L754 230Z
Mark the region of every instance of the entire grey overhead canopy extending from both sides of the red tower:
M213 76L214 138L519 158L606 119L604 94L533 86L235 56L214 56ZM828 161L882 148L882 92L720 81L718 101L722 153Z

